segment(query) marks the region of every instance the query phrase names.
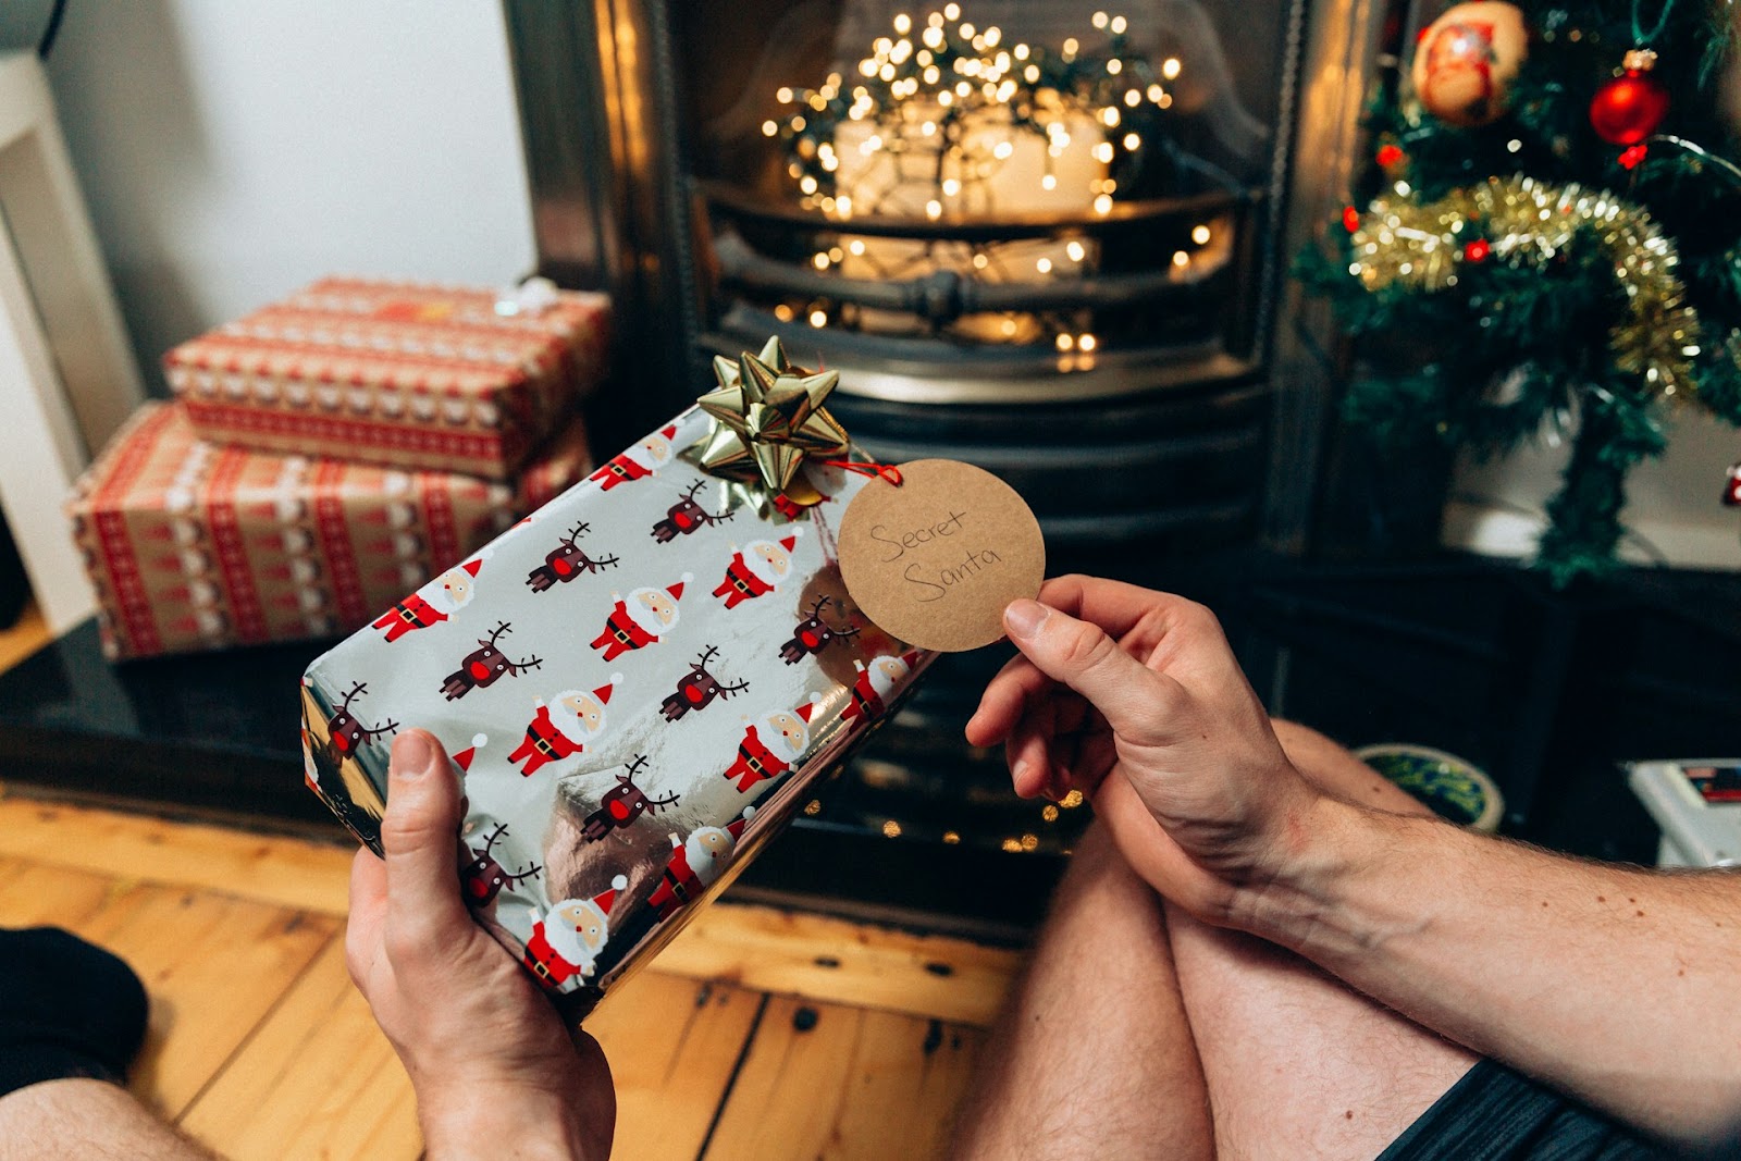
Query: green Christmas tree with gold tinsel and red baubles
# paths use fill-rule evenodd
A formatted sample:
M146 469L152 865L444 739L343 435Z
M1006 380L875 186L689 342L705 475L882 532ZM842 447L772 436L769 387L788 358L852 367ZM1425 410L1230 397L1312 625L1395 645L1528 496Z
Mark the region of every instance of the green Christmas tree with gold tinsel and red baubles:
M1671 409L1741 423L1729 19L1706 0L1447 9L1299 263L1361 357L1353 428L1480 454L1570 437L1537 547L1556 585L1612 567L1626 473Z

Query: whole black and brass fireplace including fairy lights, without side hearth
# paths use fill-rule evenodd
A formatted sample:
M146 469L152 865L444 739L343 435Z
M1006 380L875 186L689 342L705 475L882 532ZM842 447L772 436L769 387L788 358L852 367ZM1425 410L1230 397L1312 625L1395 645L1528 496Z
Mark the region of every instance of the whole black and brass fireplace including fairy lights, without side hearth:
M618 301L602 446L778 334L879 460L1013 484L1052 571L1304 547L1330 338L1283 275L1405 5L505 7L540 270ZM1065 849L1076 804L961 742L1001 658L949 661L810 830Z

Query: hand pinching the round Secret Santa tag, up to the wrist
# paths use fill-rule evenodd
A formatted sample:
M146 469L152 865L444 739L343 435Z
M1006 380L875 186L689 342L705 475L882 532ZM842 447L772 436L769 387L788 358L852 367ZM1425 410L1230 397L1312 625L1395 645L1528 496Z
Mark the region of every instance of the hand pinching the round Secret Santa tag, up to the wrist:
M1012 602L1005 628L1022 656L985 688L968 742L1003 742L1022 795L1092 795L1140 876L1227 923L1240 889L1299 848L1320 794L1288 764L1215 616L1064 576Z

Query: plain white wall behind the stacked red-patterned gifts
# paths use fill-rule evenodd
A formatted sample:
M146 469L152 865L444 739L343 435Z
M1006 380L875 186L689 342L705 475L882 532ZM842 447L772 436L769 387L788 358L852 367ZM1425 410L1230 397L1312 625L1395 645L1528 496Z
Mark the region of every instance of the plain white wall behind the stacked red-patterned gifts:
M326 273L533 265L496 0L70 0L49 77L157 385L169 346Z

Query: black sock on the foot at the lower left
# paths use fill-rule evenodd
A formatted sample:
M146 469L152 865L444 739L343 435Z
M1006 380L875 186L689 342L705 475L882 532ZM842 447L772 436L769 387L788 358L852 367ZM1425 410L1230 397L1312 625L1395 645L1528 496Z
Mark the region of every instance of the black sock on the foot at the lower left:
M145 1022L118 957L59 928L0 929L0 1097L70 1076L125 1084Z

